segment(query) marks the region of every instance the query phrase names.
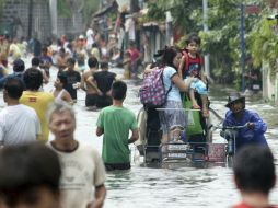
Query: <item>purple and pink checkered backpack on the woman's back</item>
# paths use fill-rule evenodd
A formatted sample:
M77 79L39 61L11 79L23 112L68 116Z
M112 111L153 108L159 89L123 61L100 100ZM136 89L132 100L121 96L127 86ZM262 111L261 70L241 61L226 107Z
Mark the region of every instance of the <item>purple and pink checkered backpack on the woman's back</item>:
M164 68L157 68L144 77L142 86L139 89L140 101L144 107L161 107L166 103L172 84L166 92L163 83L163 70Z

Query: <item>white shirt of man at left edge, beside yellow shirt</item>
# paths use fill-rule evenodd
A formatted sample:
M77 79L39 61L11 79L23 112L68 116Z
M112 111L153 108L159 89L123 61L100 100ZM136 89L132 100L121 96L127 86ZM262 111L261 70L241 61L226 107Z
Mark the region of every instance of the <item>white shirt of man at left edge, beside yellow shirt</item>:
M0 112L0 142L3 146L35 141L38 134L40 123L33 108L19 104Z

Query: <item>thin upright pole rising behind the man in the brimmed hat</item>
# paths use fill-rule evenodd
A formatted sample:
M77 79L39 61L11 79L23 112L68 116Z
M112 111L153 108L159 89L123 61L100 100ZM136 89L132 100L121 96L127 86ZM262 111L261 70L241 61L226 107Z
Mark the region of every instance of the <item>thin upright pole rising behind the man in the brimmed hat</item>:
M245 44L244 44L244 5L243 0L241 0L240 4L240 12L241 12L241 67L242 67L242 92L245 90Z

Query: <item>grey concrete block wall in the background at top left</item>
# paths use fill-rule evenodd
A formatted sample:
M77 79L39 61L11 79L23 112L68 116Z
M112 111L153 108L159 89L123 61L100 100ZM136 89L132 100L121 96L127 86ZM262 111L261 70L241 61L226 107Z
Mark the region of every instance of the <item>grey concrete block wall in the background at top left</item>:
M53 35L58 37L63 34L74 36L83 32L81 11L72 11L70 18L58 14L57 25L54 25L49 1L33 2L32 36L37 35L38 39L45 42ZM57 27L57 31L53 28L54 26ZM8 31L11 37L26 37L28 35L28 1L9 0L2 11L0 27L1 32Z

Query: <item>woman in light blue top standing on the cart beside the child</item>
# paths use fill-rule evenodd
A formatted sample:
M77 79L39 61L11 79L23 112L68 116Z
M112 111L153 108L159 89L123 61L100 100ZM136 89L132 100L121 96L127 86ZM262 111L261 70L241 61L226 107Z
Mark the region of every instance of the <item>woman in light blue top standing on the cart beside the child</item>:
M185 112L179 91L188 91L189 84L193 81L197 81L197 79L189 78L186 82L183 82L177 73L182 54L176 48L165 47L158 51L157 57L161 57L160 68L163 69L163 83L165 92L169 91L166 103L162 106L162 109L159 111L161 128L163 131L161 143L167 143L173 139L171 138L171 131L176 130L173 126L181 127L182 129L185 129L186 127ZM151 72L152 70L153 69L148 69L146 70L146 73Z

